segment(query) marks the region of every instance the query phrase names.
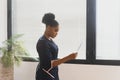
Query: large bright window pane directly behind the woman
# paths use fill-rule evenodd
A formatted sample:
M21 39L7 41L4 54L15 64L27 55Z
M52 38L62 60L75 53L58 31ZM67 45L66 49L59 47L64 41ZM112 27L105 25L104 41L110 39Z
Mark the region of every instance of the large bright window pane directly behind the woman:
M77 58L86 59L86 0L12 0L12 7L13 34L24 34L31 56L38 56L36 43L45 30L42 17L52 12L60 24L54 39L59 46L59 58L76 51L82 43Z

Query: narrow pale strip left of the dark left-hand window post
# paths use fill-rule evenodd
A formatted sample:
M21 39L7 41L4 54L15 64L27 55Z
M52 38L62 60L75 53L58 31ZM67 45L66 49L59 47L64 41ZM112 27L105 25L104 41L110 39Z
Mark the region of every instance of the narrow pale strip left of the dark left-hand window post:
M2 42L6 38L7 38L7 0L0 0L0 46L2 46Z

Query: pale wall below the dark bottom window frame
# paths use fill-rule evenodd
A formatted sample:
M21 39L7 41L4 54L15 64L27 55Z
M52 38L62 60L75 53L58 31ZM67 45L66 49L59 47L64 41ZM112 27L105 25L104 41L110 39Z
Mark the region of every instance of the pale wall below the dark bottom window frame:
M35 80L37 62L23 62L14 69L14 80ZM119 66L62 64L60 80L120 80Z

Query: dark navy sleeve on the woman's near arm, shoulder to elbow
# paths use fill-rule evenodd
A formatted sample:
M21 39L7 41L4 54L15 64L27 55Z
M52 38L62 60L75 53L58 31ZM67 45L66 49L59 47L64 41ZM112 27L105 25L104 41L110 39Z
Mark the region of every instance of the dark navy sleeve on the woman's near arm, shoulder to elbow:
M40 65L42 66L42 68L46 70L49 69L51 67L52 59L49 44L44 40L38 41L37 52L40 57Z

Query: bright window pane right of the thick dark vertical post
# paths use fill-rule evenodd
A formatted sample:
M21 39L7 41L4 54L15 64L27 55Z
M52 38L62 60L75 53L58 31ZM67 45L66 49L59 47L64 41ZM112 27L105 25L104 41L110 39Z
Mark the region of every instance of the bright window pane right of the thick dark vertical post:
M120 0L97 0L96 58L120 60Z

